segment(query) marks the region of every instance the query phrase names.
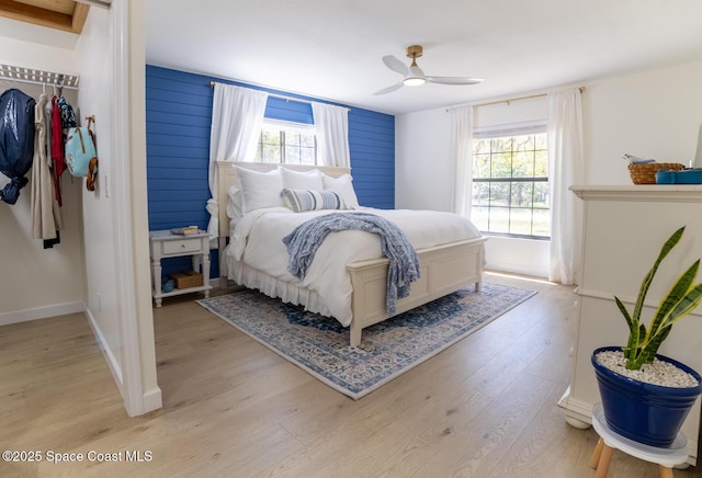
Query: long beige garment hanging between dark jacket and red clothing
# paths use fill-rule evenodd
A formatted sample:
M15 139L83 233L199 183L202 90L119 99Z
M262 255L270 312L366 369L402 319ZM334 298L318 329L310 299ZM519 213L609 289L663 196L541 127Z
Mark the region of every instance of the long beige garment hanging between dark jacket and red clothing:
M36 132L32 167L32 235L35 239L44 239L44 249L60 242L58 230L63 228L61 212L54 193L52 159L46 143L46 135L50 130L46 115L48 103L46 94L42 94L34 109Z

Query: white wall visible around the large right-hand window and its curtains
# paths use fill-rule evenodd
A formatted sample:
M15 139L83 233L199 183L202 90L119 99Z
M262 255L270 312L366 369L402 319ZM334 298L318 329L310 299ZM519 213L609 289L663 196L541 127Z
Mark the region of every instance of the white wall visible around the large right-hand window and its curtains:
M702 61L580 83L586 183L631 184L624 152L684 164L693 159L702 124L700 84ZM476 107L474 121L485 126L540 114L545 117L545 100L524 100ZM397 116L395 135L396 206L450 210L454 147L445 109ZM546 241L491 238L488 268L545 277L547 248Z

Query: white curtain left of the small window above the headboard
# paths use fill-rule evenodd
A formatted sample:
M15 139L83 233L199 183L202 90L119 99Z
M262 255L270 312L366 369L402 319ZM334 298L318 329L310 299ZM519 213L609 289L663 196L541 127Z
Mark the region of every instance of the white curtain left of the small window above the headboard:
M231 84L215 83L210 132L210 225L207 232L219 234L216 161L250 161L261 134L268 93ZM223 207L225 207L223 205Z

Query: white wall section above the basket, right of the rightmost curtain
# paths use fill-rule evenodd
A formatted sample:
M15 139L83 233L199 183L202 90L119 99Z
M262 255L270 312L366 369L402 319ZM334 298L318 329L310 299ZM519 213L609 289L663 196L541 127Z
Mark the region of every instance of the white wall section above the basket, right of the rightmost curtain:
M631 184L624 152L688 166L702 124L702 61L590 81L582 115L588 184Z

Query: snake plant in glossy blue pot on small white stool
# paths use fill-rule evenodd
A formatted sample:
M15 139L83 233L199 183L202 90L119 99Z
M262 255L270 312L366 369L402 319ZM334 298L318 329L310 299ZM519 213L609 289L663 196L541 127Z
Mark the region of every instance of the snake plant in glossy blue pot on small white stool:
M681 227L664 243L653 268L644 276L631 312L619 297L614 297L629 326L626 345L597 349L591 356L608 425L627 439L658 447L672 445L682 422L702 394L699 373L657 353L672 326L702 303L702 283L695 284L700 259L676 280L648 327L642 321L646 294L658 266L683 232L684 227ZM656 383L647 377L660 368L667 380Z

